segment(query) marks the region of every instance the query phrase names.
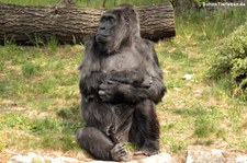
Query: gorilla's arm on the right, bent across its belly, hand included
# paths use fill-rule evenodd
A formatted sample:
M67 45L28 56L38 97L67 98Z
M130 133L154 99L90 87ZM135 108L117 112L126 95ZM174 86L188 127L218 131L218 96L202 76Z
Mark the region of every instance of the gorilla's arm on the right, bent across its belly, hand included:
M132 84L121 82L108 82L100 85L100 97L104 102L131 102L138 103L144 100L151 100L155 103L161 101L166 93L166 86L162 82L162 72L158 65L158 57L154 50L153 44L144 40L142 47L139 46L139 53L146 58L145 71L151 77L151 84L149 88L137 88ZM145 72L144 71L144 72ZM143 74L146 75L146 74Z

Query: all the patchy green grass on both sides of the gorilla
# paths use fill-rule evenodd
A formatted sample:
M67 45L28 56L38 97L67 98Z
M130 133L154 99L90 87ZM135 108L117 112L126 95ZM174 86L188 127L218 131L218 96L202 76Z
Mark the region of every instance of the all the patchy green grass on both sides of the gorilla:
M246 21L246 10L177 15L177 36L156 44L168 94L158 104L162 151L203 144L247 149L246 102L229 96L227 82L207 79L214 47ZM0 46L0 154L16 151L81 153L78 70L81 45ZM184 80L184 74L192 74ZM133 150L134 147L126 145Z

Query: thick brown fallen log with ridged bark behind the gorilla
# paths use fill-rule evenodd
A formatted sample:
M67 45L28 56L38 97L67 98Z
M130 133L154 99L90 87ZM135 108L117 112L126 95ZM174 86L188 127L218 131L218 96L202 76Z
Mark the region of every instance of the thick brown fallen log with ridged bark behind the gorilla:
M171 3L136 8L142 37L158 40L176 35ZM0 43L37 44L56 37L63 44L83 44L94 34L105 9L79 8L69 4L15 5L0 3Z

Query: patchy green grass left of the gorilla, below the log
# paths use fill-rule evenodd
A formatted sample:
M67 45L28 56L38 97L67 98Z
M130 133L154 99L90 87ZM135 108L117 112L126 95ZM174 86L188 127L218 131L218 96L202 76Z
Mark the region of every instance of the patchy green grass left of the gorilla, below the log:
M82 125L77 67L83 47L55 48L0 47L4 63L0 71L1 147L77 148L75 132Z

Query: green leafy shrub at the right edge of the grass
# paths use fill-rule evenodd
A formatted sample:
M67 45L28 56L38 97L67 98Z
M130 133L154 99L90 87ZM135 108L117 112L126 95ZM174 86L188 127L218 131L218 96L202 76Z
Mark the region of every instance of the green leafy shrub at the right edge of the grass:
M224 38L216 48L210 77L227 80L233 95L247 101L247 23Z

